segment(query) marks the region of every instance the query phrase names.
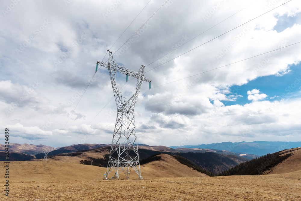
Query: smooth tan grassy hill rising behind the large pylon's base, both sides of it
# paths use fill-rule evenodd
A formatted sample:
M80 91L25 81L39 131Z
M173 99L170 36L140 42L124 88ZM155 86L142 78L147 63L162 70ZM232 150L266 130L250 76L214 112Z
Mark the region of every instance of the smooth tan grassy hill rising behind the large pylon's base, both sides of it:
M206 177L205 174L179 163L170 155L162 154L160 156L162 157L160 161L141 165L143 178ZM107 170L107 168L93 165L76 164L76 162L71 161L72 158L76 157L57 157L61 157L60 160L12 161L9 164L9 174L13 175L10 177L10 181L96 181L103 179ZM68 160L69 158L70 160ZM4 163L2 162L2 164ZM125 178L123 173L120 174L120 177ZM131 179L136 177L138 178L138 175L132 171ZM1 182L4 182L4 177L2 177Z

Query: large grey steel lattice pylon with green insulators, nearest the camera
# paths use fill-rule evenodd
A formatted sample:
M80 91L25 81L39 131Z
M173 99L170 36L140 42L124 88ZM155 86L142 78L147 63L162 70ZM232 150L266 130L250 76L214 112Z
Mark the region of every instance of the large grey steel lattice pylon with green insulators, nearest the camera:
M151 80L144 77L144 65L138 72L129 70L115 63L112 52L109 51L109 60L107 63L98 61L96 64L96 71L98 65L103 66L109 70L112 88L117 105L117 118L113 134L113 140L110 150L109 162L104 179L109 178L111 171L115 171L114 177L119 178L119 173L124 172L126 178L129 179L132 168L138 174L139 179L143 179L140 172L138 145L136 143L137 135L135 131L134 107L138 98L143 81L149 82L151 88ZM136 93L126 101L125 97L119 91L116 85L116 72L126 74L126 81L128 76L137 78Z

